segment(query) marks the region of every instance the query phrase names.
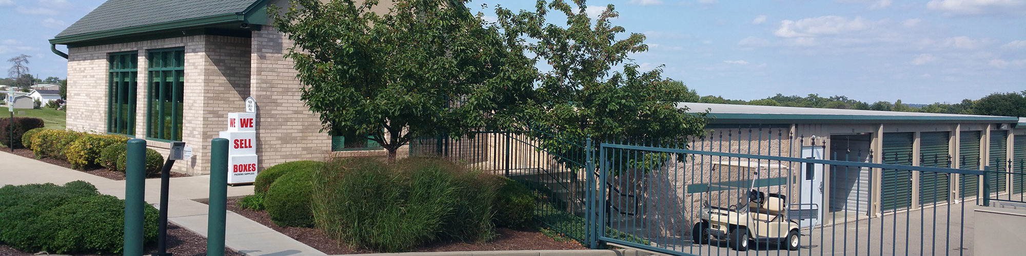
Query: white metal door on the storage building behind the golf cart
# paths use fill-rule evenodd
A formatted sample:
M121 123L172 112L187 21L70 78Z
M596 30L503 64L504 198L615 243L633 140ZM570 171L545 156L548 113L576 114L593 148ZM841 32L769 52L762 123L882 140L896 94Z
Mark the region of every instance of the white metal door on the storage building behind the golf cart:
M823 160L823 146L802 146L801 158ZM801 227L819 225L823 219L823 165L802 163L801 165L801 196L798 202L801 204L816 204L820 211L816 219L803 219L798 223ZM812 209L812 206L802 205L801 209Z

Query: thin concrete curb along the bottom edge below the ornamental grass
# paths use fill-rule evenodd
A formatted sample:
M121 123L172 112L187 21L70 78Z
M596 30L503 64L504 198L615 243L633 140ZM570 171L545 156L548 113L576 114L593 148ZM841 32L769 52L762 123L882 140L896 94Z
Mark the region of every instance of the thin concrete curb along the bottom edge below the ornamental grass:
M412 253L371 253L365 256L647 256L653 255L632 249L620 250L524 250L524 251L471 251L471 252L412 252ZM341 255L338 255L341 256Z

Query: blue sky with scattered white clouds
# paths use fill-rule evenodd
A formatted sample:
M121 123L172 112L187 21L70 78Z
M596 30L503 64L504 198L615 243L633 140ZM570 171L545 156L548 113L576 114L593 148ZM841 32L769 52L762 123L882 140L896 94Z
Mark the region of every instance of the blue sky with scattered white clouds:
M29 54L33 74L65 77L46 40L103 2L0 0L0 58ZM482 3L535 2L470 7ZM931 103L1026 90L1026 0L592 0L589 11L607 4L615 25L647 36L636 63L665 65L665 77L702 95Z

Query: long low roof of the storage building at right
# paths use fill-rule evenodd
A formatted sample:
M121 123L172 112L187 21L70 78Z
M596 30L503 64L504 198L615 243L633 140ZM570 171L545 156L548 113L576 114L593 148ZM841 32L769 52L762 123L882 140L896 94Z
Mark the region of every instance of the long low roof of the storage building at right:
M740 105L680 102L688 112L709 110L717 124L837 124L837 123L1008 123L1020 122L1015 117L834 110L768 105Z

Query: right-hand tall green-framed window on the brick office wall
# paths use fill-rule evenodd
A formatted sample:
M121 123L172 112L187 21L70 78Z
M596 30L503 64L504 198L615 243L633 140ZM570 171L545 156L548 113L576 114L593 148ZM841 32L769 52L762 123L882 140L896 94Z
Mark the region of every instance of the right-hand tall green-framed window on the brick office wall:
M182 140L185 50L151 50L147 95L147 137Z

